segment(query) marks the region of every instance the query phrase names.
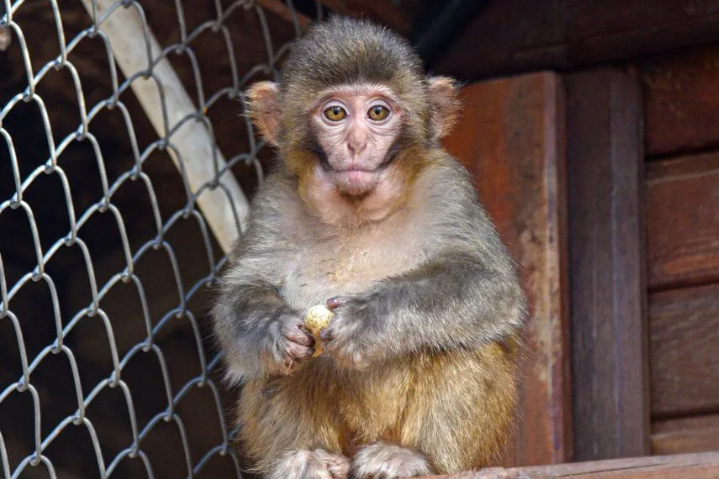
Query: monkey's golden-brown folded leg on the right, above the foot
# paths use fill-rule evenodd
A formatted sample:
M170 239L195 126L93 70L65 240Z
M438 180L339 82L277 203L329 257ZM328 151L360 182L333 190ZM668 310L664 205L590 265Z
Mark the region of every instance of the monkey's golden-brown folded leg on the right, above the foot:
M501 452L517 397L517 347L509 342L418 362L401 443L422 452L436 473L487 467Z

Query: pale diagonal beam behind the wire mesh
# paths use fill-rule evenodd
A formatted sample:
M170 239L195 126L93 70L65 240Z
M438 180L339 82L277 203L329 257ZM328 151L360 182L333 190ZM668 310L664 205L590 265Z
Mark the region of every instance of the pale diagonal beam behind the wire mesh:
M148 51L153 59L160 58L162 49L145 30L138 9L115 8L113 0L82 0L82 4L91 17L97 15L93 21L110 40L115 61L126 78L147 70ZM221 186L206 189L197 203L220 247L229 252L244 226L249 203L232 174L216 176L227 163L208 129L199 120L185 121L202 105L193 104L167 57L154 63L151 77L136 78L131 88L158 137L172 146L166 151L186 172L192 193L213 181Z

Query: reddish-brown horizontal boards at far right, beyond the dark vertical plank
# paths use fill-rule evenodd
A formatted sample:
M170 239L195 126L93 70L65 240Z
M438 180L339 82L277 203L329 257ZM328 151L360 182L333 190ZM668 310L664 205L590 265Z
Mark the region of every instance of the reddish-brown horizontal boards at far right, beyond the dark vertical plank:
M719 450L719 46L634 66L646 120L652 450Z

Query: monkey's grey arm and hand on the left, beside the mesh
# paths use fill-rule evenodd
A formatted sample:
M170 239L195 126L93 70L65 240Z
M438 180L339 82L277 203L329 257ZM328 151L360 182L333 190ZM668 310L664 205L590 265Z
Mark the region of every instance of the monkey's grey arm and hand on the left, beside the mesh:
M214 333L227 356L227 376L237 382L287 374L297 360L313 352L314 339L304 329L300 313L279 294L278 265L291 244L279 232L281 221L273 206L276 190L268 180L260 193L263 201L253 209L248 230L222 277L212 311Z

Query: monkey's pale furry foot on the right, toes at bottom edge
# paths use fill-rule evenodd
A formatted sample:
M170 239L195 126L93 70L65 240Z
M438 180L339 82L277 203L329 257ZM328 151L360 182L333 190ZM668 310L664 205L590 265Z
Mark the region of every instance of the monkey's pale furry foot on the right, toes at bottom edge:
M352 459L352 479L397 479L432 474L425 457L411 449L378 442L361 449Z

